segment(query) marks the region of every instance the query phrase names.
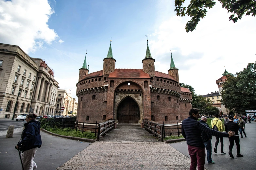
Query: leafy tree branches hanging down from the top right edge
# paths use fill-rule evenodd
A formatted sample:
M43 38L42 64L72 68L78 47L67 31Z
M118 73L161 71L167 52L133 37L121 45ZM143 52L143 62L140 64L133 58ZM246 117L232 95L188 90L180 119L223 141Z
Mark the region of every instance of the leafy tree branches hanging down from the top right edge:
M231 13L229 19L234 23L245 15L256 15L256 1L255 0L218 0L222 3L222 7L226 8ZM191 20L187 22L186 32L194 31L196 25L201 18L204 18L207 13L207 8L212 8L215 5L213 0L191 0L188 7L183 7L185 0L175 0L175 12L177 16L184 17L191 16Z

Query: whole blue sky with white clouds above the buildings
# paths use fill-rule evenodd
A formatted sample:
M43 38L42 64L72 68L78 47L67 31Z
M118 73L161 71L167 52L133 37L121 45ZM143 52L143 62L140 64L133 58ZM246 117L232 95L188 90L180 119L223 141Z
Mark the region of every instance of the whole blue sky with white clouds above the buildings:
M216 2L186 33L190 17L178 17L174 9L174 0L0 0L0 43L43 59L59 89L76 99L85 52L89 73L102 70L111 38L115 68L142 69L147 35L155 70L168 74L172 50L179 81L200 95L218 91L215 80L225 68L235 74L256 61L255 17L233 23Z

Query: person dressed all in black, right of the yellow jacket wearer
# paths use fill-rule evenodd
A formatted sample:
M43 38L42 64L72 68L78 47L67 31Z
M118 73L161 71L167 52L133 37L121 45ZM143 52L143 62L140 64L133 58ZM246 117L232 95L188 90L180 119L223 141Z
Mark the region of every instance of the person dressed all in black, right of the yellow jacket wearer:
M227 131L232 131L232 132L235 132L235 135L234 136L231 136L229 137L229 155L231 158L234 158L233 154L232 154L232 149L233 149L233 146L234 146L234 141L235 141L235 144L236 144L236 150L237 150L237 153L236 153L236 156L237 157L243 157L243 155L240 154L240 139L239 139L239 135L238 135L238 129L239 129L239 126L237 123L235 123L233 121L233 117L232 116L229 116L229 122L227 122L225 124L225 129L227 129Z

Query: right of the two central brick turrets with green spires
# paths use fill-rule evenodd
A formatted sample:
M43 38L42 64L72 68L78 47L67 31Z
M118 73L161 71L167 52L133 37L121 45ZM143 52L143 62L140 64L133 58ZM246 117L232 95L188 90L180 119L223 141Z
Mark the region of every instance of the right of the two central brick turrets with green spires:
M143 63L143 71L149 74L150 77L155 76L155 59L151 57L150 50L148 47L148 39L147 39L147 50L146 57L142 60Z

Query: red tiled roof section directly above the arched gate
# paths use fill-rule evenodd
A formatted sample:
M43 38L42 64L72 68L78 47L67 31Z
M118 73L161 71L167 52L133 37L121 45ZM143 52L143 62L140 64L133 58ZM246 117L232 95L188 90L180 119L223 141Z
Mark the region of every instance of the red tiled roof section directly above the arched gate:
M149 74L143 69L125 69L116 68L114 72L109 74L109 78L150 78Z

